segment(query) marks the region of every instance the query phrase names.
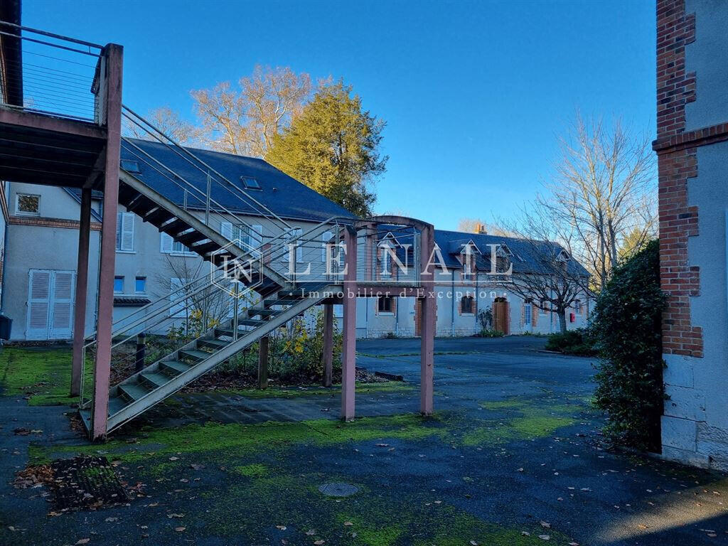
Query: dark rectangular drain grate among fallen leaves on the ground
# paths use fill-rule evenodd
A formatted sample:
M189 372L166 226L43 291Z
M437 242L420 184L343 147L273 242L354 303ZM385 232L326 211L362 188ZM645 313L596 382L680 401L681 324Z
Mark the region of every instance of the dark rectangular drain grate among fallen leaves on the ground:
M55 510L102 507L129 498L106 457L75 457L51 463Z

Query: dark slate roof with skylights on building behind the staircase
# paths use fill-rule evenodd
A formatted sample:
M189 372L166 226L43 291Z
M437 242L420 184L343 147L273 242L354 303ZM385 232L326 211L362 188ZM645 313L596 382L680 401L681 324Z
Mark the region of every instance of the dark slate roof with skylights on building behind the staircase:
M194 165L191 165L173 149L158 142L142 141L136 138L127 140L194 184L203 194L205 193L207 189L207 175L198 170L197 167L194 167ZM335 202L304 186L304 184L296 181L294 178L282 173L282 171L266 163L263 159L223 154L219 151L188 149L236 186L242 188L241 176L255 178L260 184L261 189L246 189L245 191L281 218L309 221L324 221L333 216L355 218L355 215L349 213L344 207L337 205ZM151 162L141 152L122 141L122 161L132 160L138 162L140 173L132 173L132 175L159 192L159 194L167 197L167 199L172 200L178 205L182 205L184 200L183 189L152 168L148 163L143 162L139 158L140 156ZM163 171L161 167L157 168ZM184 183L181 183L181 185L183 186ZM234 213L258 215L253 207L246 206L238 197L223 189L218 184L213 183L212 196L215 201ZM188 207L192 208L195 205L202 205L202 202L195 203L193 201L194 199L188 199Z

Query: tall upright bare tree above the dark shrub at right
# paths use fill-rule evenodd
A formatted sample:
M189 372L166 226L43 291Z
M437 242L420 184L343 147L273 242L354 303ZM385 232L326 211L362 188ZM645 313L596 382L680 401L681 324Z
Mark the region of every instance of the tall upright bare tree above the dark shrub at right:
M590 269L596 290L609 280L626 237L654 237L655 174L649 138L620 119L608 127L577 112L561 139L555 176L546 194L537 197L537 206L561 230L559 239L571 242L573 256Z

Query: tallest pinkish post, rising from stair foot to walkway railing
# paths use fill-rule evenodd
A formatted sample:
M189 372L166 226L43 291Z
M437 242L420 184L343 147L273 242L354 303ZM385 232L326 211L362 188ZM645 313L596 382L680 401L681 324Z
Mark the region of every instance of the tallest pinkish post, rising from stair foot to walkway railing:
M119 154L122 135L123 48L108 44L106 55L106 163L103 186L103 221L98 274L96 361L91 414L92 440L106 436L108 387L111 374L111 324L114 322L114 262L116 260L116 204L119 199Z

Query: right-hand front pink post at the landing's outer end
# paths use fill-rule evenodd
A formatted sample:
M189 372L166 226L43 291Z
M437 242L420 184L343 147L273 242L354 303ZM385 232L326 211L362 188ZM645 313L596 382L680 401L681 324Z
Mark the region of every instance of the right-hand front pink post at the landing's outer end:
M420 320L420 394L419 411L422 415L432 415L433 401L433 373L435 351L435 267L430 265L430 257L435 248L435 232L432 226L422 229L420 252L420 272L424 296L419 298L422 302Z

